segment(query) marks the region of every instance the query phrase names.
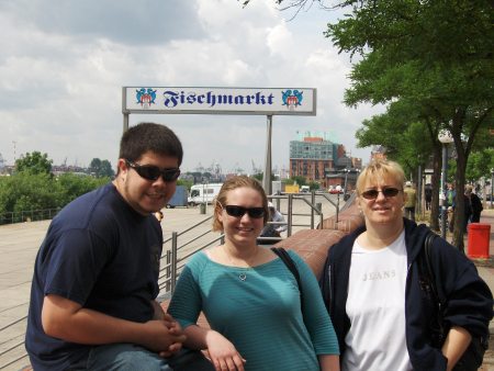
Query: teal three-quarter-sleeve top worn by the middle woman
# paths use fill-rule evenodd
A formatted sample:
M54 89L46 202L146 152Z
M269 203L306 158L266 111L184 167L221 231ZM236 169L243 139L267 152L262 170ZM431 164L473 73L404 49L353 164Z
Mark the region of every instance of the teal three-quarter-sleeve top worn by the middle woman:
M296 280L279 258L236 268L204 252L183 269L168 312L186 328L203 311L247 360L246 370L319 370L317 355L338 355L338 341L314 273L289 254L301 276L304 315Z

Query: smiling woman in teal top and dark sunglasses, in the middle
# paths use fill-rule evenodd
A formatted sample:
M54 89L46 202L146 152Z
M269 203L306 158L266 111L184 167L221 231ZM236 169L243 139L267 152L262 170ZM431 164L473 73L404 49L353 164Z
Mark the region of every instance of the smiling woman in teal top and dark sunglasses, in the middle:
M187 265L169 313L184 329L184 346L207 349L216 370L339 370L338 342L312 270L289 251L301 303L294 276L256 243L268 213L257 180L235 177L223 184L213 229L224 231L225 244ZM201 311L211 329L197 325Z

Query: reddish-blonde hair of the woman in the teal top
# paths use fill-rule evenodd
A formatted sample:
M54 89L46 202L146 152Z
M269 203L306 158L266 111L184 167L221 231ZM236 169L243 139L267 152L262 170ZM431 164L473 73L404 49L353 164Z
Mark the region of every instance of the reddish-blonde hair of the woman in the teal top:
M220 218L217 217L218 213L223 212L222 206L226 205L226 196L229 191L233 191L237 188L251 188L255 191L259 192L262 199L262 207L265 209L265 218L263 223L268 222L269 217L269 209L268 209L268 198L266 196L266 192L262 189L259 181L257 181L255 178L249 178L247 176L237 176L229 178L227 181L225 181L222 186L222 189L220 190L220 193L217 194L216 199L214 200L214 215L213 215L213 231L218 232L223 231L223 223L220 222Z

